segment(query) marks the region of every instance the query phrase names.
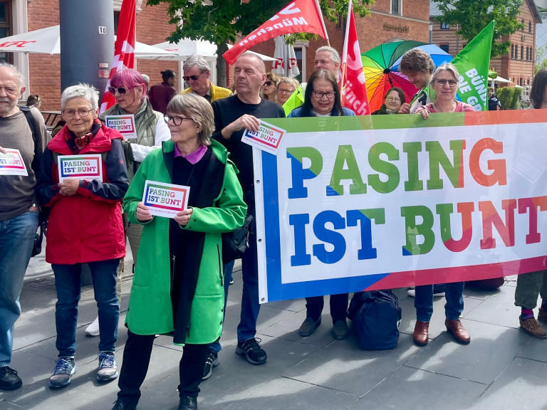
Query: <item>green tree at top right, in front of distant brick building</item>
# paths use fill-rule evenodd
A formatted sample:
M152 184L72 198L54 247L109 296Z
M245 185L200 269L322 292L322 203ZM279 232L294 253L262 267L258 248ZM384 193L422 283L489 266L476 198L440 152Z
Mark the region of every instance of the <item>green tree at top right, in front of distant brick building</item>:
M496 41L523 28L517 19L522 0L432 0L441 16L439 23L458 26L457 36L471 41L492 20L496 21L491 58L508 53L511 41Z

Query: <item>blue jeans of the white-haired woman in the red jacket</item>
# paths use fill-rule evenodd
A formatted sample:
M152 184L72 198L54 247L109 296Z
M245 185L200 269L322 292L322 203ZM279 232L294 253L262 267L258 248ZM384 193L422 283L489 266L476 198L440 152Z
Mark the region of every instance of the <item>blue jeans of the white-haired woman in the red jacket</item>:
M114 352L118 340L120 305L116 293L116 276L119 259L88 263L93 278L93 290L99 310L99 352ZM76 325L78 324L78 302L80 301L81 263L75 265L51 265L55 273L57 303L55 325L58 357L74 357L76 352Z

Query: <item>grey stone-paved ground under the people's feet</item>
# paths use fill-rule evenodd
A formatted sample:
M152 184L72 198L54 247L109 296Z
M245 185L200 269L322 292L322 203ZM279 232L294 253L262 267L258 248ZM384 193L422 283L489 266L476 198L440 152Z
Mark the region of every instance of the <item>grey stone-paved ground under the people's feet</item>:
M130 256L126 266L131 266ZM203 382L200 410L286 409L496 409L547 410L547 340L519 330L514 306L515 277L492 292L464 291L462 322L472 336L458 345L444 329L444 298L434 300L426 347L412 343L413 299L395 290L402 308L401 335L393 350L363 351L351 332L346 340L331 335L328 303L323 322L311 337L300 337L305 302L263 305L258 335L268 353L262 366L234 354L241 303L241 267L236 263L230 287L220 365ZM123 281L120 337L116 357L122 364L127 332L123 325L131 278ZM76 363L71 386L53 391L48 377L55 348L55 285L43 255L33 258L21 294L23 314L16 322L11 366L24 381L16 391L0 393L0 410L109 410L116 382L95 381L97 337L85 337L96 315L93 289L83 288L78 317ZM137 409L177 409L178 362L182 347L169 337L155 341L152 361Z

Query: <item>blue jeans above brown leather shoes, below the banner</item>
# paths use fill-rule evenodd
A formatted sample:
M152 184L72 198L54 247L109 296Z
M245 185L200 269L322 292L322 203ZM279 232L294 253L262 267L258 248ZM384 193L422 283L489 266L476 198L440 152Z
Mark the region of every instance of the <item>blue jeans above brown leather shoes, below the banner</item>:
M449 320L458 320L464 310L464 282L446 283L444 285L447 303L444 305L444 314ZM433 314L433 285L416 286L414 299L416 318L420 322L429 322Z

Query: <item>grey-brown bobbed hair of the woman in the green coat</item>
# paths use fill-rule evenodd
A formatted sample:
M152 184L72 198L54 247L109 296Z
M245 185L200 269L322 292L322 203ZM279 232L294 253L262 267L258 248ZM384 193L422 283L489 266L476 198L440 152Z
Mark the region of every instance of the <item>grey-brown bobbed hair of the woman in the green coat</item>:
M199 141L204 145L211 144L214 131L214 114L211 104L205 98L194 93L175 95L167 105L169 115L186 115L199 125Z

